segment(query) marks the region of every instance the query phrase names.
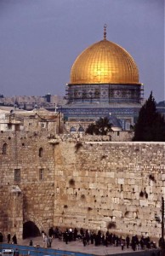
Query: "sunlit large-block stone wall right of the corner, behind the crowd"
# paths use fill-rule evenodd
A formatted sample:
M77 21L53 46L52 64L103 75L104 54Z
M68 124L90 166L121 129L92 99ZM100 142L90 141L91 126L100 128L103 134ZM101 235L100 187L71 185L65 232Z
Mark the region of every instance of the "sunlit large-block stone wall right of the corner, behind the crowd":
M60 143L54 224L161 236L164 151L165 143Z

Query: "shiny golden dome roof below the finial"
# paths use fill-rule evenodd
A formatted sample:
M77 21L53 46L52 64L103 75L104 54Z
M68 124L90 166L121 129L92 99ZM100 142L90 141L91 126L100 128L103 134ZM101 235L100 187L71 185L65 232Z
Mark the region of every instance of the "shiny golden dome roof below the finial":
M70 84L139 84L139 71L125 49L104 39L78 55Z

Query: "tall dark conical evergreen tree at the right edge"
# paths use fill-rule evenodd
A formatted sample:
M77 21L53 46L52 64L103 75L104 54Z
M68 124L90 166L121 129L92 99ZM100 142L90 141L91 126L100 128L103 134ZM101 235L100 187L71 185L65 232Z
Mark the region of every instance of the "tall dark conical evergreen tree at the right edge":
M133 141L165 142L165 119L162 113L158 113L156 110L152 91L148 100L139 110L139 118L134 126Z

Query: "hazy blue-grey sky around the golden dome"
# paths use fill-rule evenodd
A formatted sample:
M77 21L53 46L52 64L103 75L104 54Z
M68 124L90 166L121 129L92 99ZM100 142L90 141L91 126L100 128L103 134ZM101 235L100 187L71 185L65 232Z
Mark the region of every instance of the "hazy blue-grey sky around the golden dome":
M73 62L103 39L139 67L145 98L165 99L164 0L0 0L0 94L65 96Z

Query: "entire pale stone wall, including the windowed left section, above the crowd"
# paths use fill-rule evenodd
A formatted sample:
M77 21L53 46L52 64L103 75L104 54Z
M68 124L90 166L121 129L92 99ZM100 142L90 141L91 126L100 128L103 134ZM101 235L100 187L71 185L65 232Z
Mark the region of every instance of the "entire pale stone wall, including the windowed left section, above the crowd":
M77 141L15 131L1 133L0 144L3 234L21 237L31 221L40 231L54 225L161 236L165 143Z

